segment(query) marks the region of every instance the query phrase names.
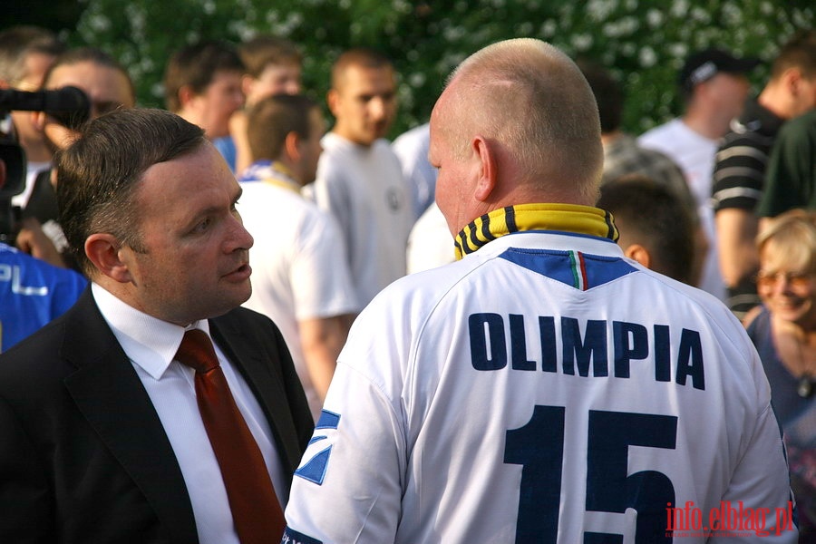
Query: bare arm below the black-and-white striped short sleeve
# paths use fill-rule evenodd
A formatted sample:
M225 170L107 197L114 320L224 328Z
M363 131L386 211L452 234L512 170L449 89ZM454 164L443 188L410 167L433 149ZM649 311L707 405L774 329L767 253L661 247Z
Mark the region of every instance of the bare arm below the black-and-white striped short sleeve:
M714 223L720 272L725 285L733 288L744 278L751 277L759 267L759 255L754 242L759 220L753 211L726 208L717 211Z

